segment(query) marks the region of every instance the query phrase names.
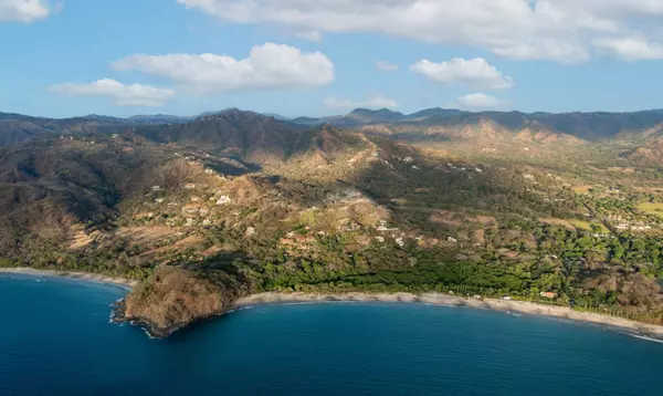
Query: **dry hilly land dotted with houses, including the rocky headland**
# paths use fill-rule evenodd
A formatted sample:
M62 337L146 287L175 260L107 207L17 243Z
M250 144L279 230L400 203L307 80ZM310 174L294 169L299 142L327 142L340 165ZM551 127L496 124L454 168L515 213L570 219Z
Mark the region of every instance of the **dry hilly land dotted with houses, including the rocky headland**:
M36 129L0 148L0 265L137 280L118 319L156 335L271 291L511 295L659 323L656 114L3 115Z

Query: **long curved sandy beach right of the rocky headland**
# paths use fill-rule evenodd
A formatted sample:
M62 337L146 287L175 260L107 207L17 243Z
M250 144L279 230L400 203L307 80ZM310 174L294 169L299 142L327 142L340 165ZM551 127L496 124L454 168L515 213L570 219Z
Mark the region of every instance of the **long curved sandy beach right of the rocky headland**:
M601 315L590 312L578 312L566 306L544 305L524 301L503 301L494 299L463 299L460 296L424 293L421 295L410 293L343 293L343 294L306 294L306 293L262 293L241 299L238 306L255 304L278 304L292 302L328 302L328 301L358 301L358 302L407 302L431 305L466 306L473 309L508 311L532 315L544 315L571 321L598 324L606 327L623 330L636 335L663 340L663 326L640 323L628 319Z

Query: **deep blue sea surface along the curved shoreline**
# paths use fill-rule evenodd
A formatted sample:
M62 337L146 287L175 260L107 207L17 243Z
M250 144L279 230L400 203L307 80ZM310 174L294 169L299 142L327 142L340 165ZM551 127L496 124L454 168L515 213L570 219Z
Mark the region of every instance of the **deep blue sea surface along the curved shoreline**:
M663 344L421 304L263 305L166 341L108 323L126 293L0 274L0 395L662 395Z

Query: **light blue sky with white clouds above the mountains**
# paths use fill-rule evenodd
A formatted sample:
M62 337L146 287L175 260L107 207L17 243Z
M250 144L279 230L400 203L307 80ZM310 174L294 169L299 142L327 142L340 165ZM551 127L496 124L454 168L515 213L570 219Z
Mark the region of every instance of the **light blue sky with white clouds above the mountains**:
M0 0L0 112L663 107L663 0Z

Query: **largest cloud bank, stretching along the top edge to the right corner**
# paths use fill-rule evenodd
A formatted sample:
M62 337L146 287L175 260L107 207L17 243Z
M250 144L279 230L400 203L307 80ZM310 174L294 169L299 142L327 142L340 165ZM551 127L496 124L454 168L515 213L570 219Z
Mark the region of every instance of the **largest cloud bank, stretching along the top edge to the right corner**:
M594 40L661 41L661 0L178 0L222 21L319 33L370 32L579 63ZM318 34L314 34L317 32Z

